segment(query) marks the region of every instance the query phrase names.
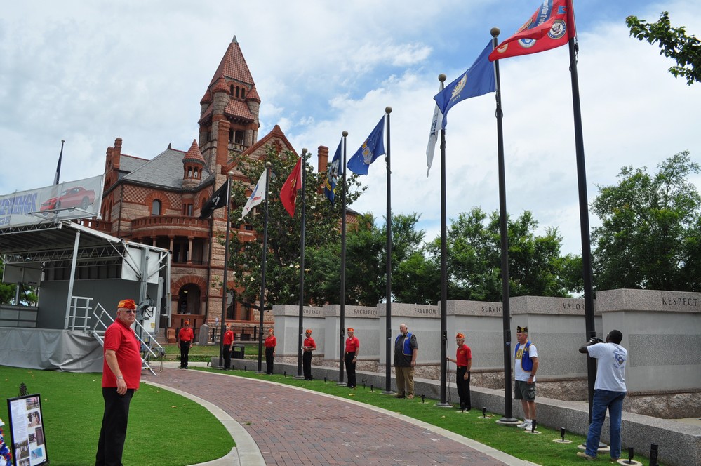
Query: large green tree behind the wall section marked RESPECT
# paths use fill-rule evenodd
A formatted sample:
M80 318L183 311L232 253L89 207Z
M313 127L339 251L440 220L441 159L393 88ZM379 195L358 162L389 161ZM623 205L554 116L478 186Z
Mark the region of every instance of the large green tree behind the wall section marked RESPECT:
M679 152L650 175L625 166L617 185L599 187L592 209L594 283L598 290L700 291L701 197L689 175L699 164Z

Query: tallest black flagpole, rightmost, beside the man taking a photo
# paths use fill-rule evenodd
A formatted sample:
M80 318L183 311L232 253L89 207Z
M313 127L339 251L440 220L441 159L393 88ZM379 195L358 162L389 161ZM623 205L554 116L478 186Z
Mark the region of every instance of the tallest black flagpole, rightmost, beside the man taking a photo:
M570 1L567 22L575 27L573 1ZM592 285L592 244L589 238L589 199L587 198L587 168L584 156L584 134L582 133L582 107L580 106L580 84L577 74L577 52L579 45L576 37L567 43L570 51L570 78L572 80L572 111L575 124L575 153L577 158L577 185L580 203L580 234L582 236L582 278L584 280L585 329L586 340L596 336L594 328L594 287ZM596 361L587 355L587 378L589 380L589 422L592 422L592 404L594 401L594 382L596 380Z

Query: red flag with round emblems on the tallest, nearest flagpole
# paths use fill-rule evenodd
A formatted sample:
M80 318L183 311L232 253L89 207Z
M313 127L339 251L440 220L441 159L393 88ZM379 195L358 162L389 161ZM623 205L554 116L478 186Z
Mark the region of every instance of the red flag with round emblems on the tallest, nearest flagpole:
M489 61L547 51L567 44L575 35L571 0L543 0L516 34L489 54Z

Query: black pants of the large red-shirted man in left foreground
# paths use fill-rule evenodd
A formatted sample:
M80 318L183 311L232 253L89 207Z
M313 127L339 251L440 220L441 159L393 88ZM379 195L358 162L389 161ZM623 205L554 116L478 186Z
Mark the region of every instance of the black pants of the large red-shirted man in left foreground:
M126 423L129 418L129 404L134 390L129 389L120 395L116 388L103 388L105 413L102 415L102 428L98 440L98 453L95 466L121 466L121 454L126 439Z

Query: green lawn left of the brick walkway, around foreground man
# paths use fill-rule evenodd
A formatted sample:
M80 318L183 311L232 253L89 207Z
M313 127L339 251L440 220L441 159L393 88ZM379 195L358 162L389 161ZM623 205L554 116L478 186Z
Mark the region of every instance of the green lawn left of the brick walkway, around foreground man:
M92 466L102 423L102 374L35 371L0 366L0 397L17 397L20 383L41 394L46 452L52 466ZM123 462L140 466L192 465L226 455L229 432L199 404L142 384L131 401ZM0 404L6 426L7 403ZM194 448L196 446L196 448Z

